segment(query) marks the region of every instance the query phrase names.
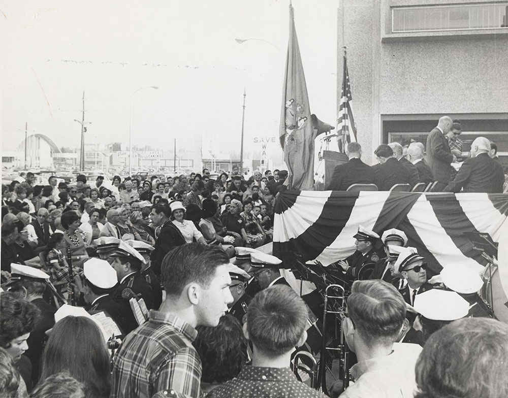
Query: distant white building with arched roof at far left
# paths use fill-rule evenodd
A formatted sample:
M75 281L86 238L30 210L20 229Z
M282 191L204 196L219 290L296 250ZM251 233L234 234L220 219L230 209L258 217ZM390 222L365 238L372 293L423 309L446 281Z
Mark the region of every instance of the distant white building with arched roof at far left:
M25 140L21 141L16 151L22 154L20 164L24 164ZM59 153L60 149L44 134L33 134L26 138L27 167L53 167L53 156Z

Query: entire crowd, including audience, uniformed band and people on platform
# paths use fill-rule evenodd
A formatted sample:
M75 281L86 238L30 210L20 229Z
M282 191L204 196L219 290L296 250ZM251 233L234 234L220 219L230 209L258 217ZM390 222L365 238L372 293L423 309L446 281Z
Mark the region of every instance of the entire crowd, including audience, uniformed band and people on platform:
M422 144L403 155L395 143L378 147L370 167L351 143L331 188L437 181L436 190L501 192L482 138L453 177L452 151L462 148L444 135L457 128L439 120L428 164ZM290 368L296 351L313 351L323 292L316 284L301 296L291 264L261 251L287 176L245 180L233 168L210 179L204 169L115 176L109 189L84 175L34 186L27 173L3 186L0 396L326 396ZM396 228L359 225L354 238L356 251L327 268L347 290L335 311L351 353L327 394L508 396L508 325L479 294L482 277L450 266L429 279L424 256Z

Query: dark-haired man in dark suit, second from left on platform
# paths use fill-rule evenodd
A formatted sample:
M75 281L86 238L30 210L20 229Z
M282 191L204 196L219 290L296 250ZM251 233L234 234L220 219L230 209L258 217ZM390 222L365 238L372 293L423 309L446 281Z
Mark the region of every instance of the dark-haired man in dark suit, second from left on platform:
M381 144L374 151L379 160L375 169L375 184L380 191L389 191L395 184L409 184L409 171L393 155L393 150Z

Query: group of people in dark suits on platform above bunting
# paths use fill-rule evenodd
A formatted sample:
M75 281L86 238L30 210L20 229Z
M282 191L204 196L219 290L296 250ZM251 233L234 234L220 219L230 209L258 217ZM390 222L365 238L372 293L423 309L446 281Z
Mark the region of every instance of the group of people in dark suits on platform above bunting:
M361 160L361 145L350 143L349 160L335 167L327 189L345 191L353 184L374 184L379 191L389 191L394 185L408 184L407 190L418 191L507 192L508 171L503 170L497 156L497 145L477 137L465 152L461 132L460 120L443 116L425 145L379 145L374 151L378 163L372 166Z

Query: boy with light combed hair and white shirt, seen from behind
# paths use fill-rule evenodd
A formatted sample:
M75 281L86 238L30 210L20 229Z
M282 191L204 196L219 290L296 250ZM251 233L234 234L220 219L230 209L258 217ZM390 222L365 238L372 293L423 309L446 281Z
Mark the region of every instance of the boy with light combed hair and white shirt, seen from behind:
M350 370L356 381L341 398L412 398L422 348L395 343L405 315L406 305L394 286L381 280L353 283L342 328L358 363Z

